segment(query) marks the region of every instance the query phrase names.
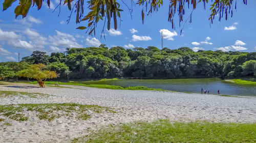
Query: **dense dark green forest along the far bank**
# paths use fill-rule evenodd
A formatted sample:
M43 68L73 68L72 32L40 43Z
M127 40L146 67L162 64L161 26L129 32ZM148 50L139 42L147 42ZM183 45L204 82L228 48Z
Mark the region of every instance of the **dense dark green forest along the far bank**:
M45 64L56 71L58 79L98 78L237 78L256 76L256 52L204 51L194 52L188 47L179 49L154 46L67 48L64 53L34 51L20 62L2 62L0 67L14 72L31 64ZM1 68L0 68L1 71Z

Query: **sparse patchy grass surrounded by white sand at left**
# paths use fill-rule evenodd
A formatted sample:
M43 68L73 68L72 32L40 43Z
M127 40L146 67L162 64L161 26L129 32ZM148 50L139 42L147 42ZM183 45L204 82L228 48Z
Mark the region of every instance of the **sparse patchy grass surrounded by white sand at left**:
M1 105L0 115L3 115L11 120L15 121L27 121L23 112L24 111L36 111L36 116L40 120L53 121L61 116L71 116L70 113L74 113L76 118L81 120L90 119L90 112L115 112L111 108L101 107L98 105L81 105L75 103L62 103L62 104L19 104L19 105Z

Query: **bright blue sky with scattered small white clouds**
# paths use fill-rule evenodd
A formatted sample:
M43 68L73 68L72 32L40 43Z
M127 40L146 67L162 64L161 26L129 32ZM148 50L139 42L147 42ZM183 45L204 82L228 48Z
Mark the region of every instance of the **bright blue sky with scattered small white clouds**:
M134 47L156 46L161 49L161 32L163 32L163 47L178 49L189 47L194 51L202 50L223 50L223 51L256 51L256 1L247 1L247 5L242 0L237 1L237 10L233 11L233 17L223 18L218 21L218 17L210 24L209 4L206 9L203 4L197 5L192 15L192 23L182 22L183 32L176 17L175 30L168 20L168 1L157 12L144 18L142 24L142 7L132 5L130 1L127 6L133 9L132 15L129 9L120 3L121 19L118 18L117 30L114 30L112 21L110 31L103 28L104 21L99 21L96 27L96 35L89 36L86 30L77 30L78 26L87 26L88 22L75 23L75 14L71 16L69 24L66 20L70 15L68 7L61 5L61 11L55 9L59 0L52 0L51 7L44 5L38 11L37 7L31 7L25 18L18 16L15 19L14 9L18 2L14 2L10 8L0 12L0 62L18 61L29 56L33 51L63 52L66 48L76 47L98 47L105 44L111 48L121 46L125 49ZM3 2L2 2L3 3ZM3 5L0 5L3 9ZM54 12L53 12L54 11ZM192 11L186 8L185 18ZM84 10L85 13L88 10ZM59 14L59 16L58 16ZM145 14L146 15L146 14ZM176 15L177 16L177 15ZM184 25L184 26L183 26ZM105 39L101 35L102 29Z

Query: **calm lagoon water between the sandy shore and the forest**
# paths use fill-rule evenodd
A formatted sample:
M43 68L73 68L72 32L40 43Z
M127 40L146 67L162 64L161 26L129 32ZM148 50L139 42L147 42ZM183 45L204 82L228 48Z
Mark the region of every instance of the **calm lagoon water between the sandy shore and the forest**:
M84 84L110 84L121 87L145 86L148 88L164 89L177 92L201 93L201 88L210 90L210 94L255 96L255 85L243 85L225 82L219 78L200 79L118 79L99 81L80 81Z

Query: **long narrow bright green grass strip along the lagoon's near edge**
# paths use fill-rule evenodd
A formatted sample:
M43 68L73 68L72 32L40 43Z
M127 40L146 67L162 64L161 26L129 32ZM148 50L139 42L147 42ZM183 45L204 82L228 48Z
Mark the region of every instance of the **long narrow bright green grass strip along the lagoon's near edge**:
M110 80L110 79L106 79ZM116 79L111 79L111 80L116 80ZM34 82L19 82L19 83L29 83L29 84L37 84L36 81ZM91 87L91 88L99 88L99 89L111 89L111 90L147 90L147 91L167 91L167 90L162 90L162 89L153 89L153 88L147 88L144 86L137 86L137 87L120 87L116 85L108 85L108 84L82 84L82 83L74 83L74 81L70 82L56 82L56 81L46 81L45 84L55 84L58 83L59 85L81 85L84 87Z

